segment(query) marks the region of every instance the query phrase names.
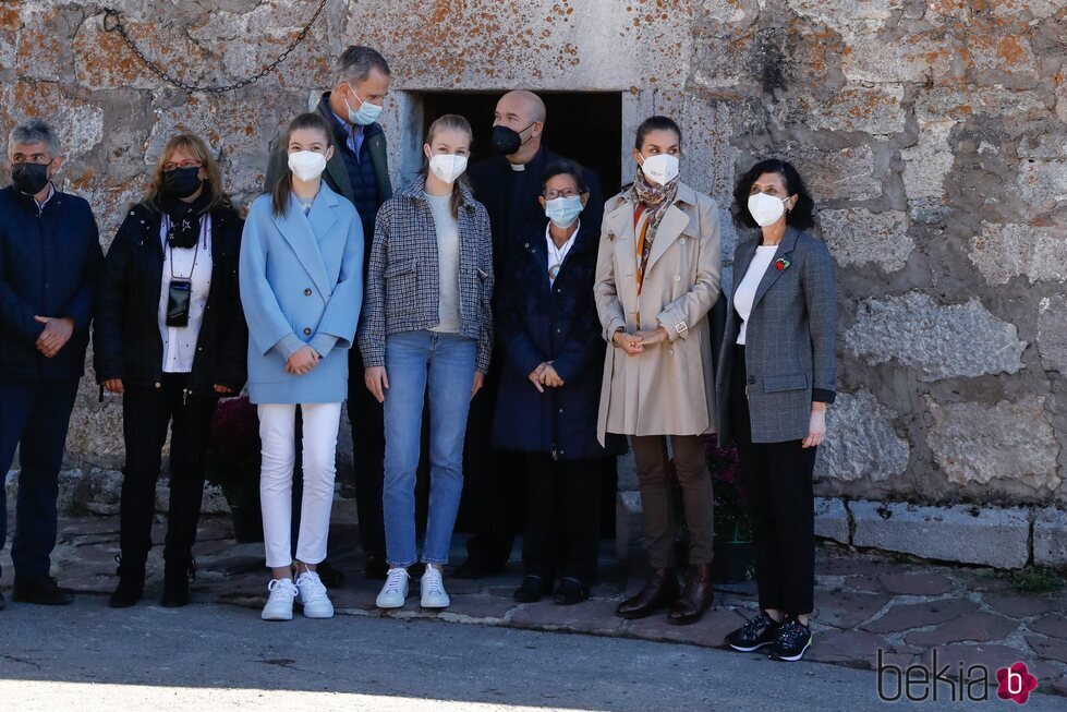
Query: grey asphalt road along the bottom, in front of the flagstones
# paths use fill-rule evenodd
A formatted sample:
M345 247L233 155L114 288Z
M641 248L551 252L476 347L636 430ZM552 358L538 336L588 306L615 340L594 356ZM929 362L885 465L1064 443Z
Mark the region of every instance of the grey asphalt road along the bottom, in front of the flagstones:
M89 596L2 615L0 709L17 712L892 707L868 671L642 640L354 616L266 624L234 606L111 611ZM1057 708L1034 697L1027 709Z

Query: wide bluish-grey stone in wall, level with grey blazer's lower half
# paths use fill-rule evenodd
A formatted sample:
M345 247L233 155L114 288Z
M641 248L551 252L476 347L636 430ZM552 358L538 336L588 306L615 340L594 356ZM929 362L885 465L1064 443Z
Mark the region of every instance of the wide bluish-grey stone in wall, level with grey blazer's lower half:
M1027 342L1014 324L993 316L977 299L938 304L912 291L860 302L845 346L870 365L896 360L929 382L1017 373Z

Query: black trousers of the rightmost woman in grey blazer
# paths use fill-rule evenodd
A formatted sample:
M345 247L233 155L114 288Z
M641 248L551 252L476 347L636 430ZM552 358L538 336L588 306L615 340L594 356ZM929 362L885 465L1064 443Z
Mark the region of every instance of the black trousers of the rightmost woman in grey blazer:
M802 615L814 608L815 448L802 441L753 443L744 395L744 348L733 354L730 418L741 459L741 482L752 519L760 607Z

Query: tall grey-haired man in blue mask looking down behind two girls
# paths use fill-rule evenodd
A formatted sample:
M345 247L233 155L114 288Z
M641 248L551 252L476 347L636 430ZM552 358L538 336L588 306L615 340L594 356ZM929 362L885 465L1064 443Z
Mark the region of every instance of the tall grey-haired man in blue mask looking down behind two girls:
M318 112L334 126L337 148L326 164L323 179L338 195L347 197L363 221L366 240L363 274L366 276L374 244L374 219L381 204L392 197L386 136L377 118L389 93L391 80L385 58L369 47L352 46L338 61L332 92L323 94ZM288 166L286 146L275 146L267 168L267 188L275 184ZM349 420L352 423L352 449L360 540L366 556L367 578L384 579L386 565L385 524L381 514L381 484L385 476L385 429L381 405L363 383L363 357L355 346L349 350ZM300 469L294 483L299 482ZM296 490L296 488L294 488ZM293 511L299 511L294 509ZM294 517L294 526L298 522ZM295 541L295 540L294 540ZM319 566L328 586L341 582L331 568Z

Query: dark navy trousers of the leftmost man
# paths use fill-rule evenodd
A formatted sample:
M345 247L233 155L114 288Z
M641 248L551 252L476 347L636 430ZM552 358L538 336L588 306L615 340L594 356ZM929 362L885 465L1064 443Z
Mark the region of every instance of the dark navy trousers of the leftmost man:
M19 448L19 498L11 560L15 580L48 576L56 546L59 471L78 378L0 384L0 548L8 531L2 476Z

